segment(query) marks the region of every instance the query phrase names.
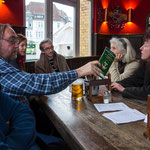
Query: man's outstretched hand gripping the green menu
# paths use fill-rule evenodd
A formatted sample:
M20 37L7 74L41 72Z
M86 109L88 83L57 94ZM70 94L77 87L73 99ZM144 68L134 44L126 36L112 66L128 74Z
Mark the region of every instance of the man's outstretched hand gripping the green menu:
M78 78L83 76L88 76L88 75L94 75L95 77L99 76L101 70L97 66L100 66L100 63L99 61L96 60L96 61L89 62L84 66L76 69L78 73Z

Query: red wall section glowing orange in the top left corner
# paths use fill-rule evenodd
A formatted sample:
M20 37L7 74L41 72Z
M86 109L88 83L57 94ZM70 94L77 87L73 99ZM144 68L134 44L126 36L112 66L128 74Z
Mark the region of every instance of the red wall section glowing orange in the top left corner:
M0 3L0 23L23 26L23 0L5 0Z

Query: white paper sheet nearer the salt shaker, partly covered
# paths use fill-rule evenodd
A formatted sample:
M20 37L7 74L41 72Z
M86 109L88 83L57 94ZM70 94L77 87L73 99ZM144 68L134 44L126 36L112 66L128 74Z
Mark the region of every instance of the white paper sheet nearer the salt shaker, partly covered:
M98 112L103 111L117 111L117 110L126 110L130 109L127 105L124 103L109 103L109 104L94 104Z

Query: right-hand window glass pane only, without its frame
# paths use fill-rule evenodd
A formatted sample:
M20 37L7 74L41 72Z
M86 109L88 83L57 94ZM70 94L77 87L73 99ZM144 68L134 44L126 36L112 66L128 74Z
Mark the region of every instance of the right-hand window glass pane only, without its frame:
M75 56L74 16L74 7L53 2L53 43L55 51L65 57Z

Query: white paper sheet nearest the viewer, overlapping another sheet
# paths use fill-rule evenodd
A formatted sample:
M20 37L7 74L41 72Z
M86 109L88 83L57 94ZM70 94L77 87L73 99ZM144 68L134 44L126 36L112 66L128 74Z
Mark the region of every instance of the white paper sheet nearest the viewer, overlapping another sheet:
M110 119L115 124L129 123L144 120L145 114L136 109L127 109L119 112L104 113L104 117Z

